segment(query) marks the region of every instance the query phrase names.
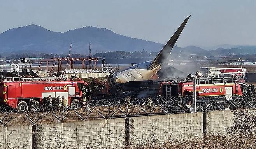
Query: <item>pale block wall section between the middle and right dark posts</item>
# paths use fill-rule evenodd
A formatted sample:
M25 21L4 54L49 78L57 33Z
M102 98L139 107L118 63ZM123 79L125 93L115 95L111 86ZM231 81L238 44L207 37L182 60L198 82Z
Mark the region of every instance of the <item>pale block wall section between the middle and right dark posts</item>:
M134 134L131 135L131 143L140 144L154 138L165 142L169 138L186 135L202 137L202 117L202 113L134 117Z

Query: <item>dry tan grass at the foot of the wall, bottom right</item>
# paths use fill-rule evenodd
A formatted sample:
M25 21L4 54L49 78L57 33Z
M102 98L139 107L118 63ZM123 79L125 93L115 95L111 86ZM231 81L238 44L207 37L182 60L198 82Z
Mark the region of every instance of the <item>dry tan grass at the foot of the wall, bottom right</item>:
M254 149L256 135L209 135L207 138L187 138L155 143L144 142L129 149Z

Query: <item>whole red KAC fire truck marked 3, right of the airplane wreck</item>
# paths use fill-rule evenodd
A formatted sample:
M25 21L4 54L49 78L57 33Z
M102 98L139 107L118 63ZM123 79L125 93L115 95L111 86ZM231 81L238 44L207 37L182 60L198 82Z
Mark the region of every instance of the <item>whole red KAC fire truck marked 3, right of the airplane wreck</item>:
M193 80L169 79L160 83L158 95L167 99L179 99L183 105L193 104ZM240 102L256 102L254 85L247 85L232 77L196 79L196 100L201 105L218 103L218 106L225 107Z

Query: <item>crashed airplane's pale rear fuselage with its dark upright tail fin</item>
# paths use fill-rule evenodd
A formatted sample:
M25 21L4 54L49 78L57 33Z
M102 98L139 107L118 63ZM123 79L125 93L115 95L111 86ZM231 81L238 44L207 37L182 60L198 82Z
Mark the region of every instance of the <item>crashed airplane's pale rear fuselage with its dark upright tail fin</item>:
M110 74L107 77L106 86L107 90L110 94L116 94L116 92L122 92L124 84L127 84L131 81L148 81L152 80L152 77L159 72L161 69L161 65L170 55L172 48L174 47L177 39L181 35L183 28L185 27L186 23L188 22L190 16L188 16L181 26L177 29L177 31L172 35L170 40L165 44L163 49L158 53L156 58L152 61L146 61L144 63L140 63L138 65L134 65L132 67L126 68L121 72L117 72L116 74ZM117 93L117 94L119 94Z

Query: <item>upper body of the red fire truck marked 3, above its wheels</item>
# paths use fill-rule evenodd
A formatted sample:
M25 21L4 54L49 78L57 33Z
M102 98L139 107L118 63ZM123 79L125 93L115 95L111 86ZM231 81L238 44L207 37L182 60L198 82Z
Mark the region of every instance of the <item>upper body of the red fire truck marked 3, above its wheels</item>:
M196 92L200 97L223 96L228 100L233 99L233 95L242 96L242 89L248 88L244 83L233 82L232 78L200 78L196 81ZM193 95L193 81L189 80L173 84L171 81L163 81L160 88L159 94L163 96Z

